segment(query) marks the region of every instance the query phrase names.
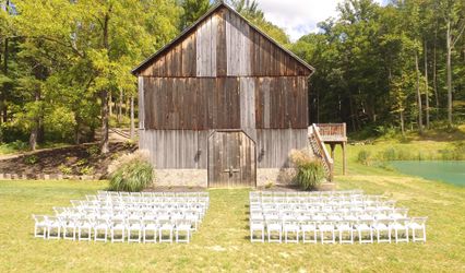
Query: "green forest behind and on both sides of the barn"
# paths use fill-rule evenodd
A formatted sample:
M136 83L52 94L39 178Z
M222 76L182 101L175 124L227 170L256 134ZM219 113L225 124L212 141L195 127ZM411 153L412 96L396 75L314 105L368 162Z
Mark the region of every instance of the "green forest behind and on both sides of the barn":
M228 1L317 69L311 122L424 132L465 120L465 2L345 0L291 41L260 4ZM195 22L208 0L0 0L0 142L82 143L136 128L131 69Z

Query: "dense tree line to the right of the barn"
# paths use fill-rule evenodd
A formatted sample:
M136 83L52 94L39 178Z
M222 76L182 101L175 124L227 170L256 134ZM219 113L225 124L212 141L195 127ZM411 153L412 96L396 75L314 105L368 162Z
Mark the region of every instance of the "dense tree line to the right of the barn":
M313 121L402 133L463 122L464 1L347 0L337 11L321 32L290 46L318 71L310 81Z

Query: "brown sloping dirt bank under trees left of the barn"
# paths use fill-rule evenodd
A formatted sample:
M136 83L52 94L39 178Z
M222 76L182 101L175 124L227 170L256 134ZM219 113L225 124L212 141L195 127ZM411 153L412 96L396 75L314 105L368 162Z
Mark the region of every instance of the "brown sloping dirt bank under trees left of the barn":
M98 144L82 144L21 155L0 161L1 174L22 174L26 176L63 175L97 176L105 178L108 165L124 153L134 152L136 145L110 143L109 153L100 155Z

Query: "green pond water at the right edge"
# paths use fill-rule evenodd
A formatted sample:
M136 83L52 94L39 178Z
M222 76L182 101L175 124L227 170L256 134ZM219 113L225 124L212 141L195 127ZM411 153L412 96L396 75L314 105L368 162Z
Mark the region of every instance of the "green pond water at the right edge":
M456 186L465 187L465 161L464 162L437 162L437 161L400 161L391 162L398 171L419 176L430 180L439 180Z

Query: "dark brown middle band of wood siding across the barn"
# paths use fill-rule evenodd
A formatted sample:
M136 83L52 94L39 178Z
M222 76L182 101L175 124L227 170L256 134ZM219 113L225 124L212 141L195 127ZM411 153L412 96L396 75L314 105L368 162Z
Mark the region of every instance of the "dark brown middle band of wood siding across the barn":
M308 127L303 76L145 78L142 86L146 129Z

